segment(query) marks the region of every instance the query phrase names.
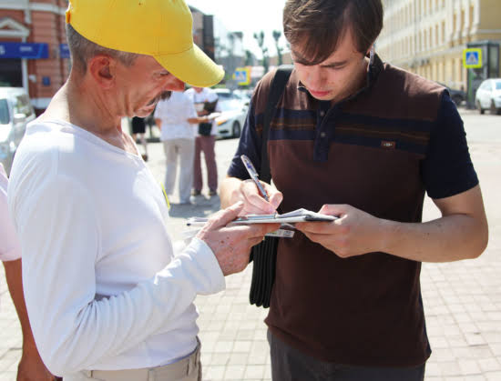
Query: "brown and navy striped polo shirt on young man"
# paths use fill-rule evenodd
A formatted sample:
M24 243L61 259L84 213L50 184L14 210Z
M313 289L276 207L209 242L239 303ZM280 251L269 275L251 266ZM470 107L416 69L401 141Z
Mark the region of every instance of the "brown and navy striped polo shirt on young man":
M273 73L257 86L228 174L260 168ZM281 212L348 204L373 216L420 222L424 192L454 196L478 184L463 122L444 87L376 56L367 85L331 105L291 74L271 120L271 176ZM355 366L417 366L430 356L421 264L385 253L340 258L300 232L281 239L266 323L303 353Z

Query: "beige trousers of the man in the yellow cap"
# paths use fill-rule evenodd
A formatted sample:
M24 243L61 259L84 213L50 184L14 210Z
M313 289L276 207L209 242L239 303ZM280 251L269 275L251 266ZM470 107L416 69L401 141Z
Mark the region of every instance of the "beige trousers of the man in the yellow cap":
M84 370L63 381L201 381L200 343L189 355L168 366L124 370Z

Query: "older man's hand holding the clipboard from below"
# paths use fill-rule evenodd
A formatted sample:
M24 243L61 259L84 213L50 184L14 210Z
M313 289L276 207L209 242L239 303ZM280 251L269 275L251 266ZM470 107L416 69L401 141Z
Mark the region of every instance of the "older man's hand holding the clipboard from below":
M199 231L197 237L210 246L218 259L224 276L239 273L249 264L251 247L259 244L264 235L277 230L279 224L227 226L239 216L243 203L220 210Z

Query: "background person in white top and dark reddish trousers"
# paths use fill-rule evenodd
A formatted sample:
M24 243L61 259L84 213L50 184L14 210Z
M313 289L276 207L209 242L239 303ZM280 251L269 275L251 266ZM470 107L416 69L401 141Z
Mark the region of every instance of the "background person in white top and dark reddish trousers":
M186 94L192 99L197 112L200 116L209 115L204 105L214 103L215 112L220 112L218 95L209 87L193 86L186 91ZM207 185L209 186L209 196L216 196L218 191L218 166L216 165L216 135L218 133L218 125L215 120L210 122L210 129L204 131L199 129L195 139L195 160L193 162L193 196L199 196L203 187L201 160L200 155L203 152L205 165L207 167Z

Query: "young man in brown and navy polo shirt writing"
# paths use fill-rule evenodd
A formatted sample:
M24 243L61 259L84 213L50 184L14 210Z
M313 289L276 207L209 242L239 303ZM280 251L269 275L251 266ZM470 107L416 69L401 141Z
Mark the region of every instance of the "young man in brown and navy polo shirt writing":
M269 326L273 379L423 380L430 356L421 262L479 256L482 196L444 87L371 52L380 0L288 0L294 70L271 120L270 203L240 163L261 167L271 75L253 95L221 185L243 213L304 207L339 216L281 240ZM280 192L278 190L280 190ZM442 216L421 223L424 193Z

